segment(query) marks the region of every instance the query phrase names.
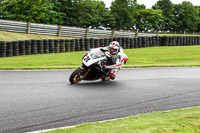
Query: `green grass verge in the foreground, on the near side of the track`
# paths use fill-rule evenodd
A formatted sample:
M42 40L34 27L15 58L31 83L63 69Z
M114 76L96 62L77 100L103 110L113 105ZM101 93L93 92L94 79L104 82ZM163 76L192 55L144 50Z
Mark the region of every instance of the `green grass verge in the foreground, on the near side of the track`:
M48 133L199 133L200 107L139 114L113 121L85 123Z

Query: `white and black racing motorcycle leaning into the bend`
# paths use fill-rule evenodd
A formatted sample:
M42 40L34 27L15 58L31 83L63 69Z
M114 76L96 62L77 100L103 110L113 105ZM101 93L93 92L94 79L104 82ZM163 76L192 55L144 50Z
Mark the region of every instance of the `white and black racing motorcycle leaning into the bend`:
M86 52L82 57L82 65L77 68L70 76L69 81L72 84L77 84L81 80L110 80L106 78L109 69L104 66L109 64L109 59L105 52L100 49L92 49Z

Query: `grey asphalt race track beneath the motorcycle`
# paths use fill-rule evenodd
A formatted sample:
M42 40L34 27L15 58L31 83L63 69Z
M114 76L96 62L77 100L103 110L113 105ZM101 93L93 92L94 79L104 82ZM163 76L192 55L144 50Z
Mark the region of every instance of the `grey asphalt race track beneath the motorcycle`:
M0 133L200 106L200 67L122 69L114 81L78 85L72 71L0 71Z

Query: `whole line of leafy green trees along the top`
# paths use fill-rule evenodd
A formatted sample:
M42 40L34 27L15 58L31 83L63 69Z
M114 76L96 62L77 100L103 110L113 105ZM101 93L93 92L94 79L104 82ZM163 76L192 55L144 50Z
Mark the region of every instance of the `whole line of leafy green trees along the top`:
M137 0L0 0L0 19L134 31L200 32L200 7L158 0L151 9Z

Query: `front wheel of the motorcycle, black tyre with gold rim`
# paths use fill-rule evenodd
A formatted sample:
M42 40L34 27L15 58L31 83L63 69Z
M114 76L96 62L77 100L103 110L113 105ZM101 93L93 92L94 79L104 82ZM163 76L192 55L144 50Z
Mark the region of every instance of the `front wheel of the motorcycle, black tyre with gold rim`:
M70 76L69 81L72 84L79 83L82 79L80 78L81 75L83 75L84 69L77 68Z

